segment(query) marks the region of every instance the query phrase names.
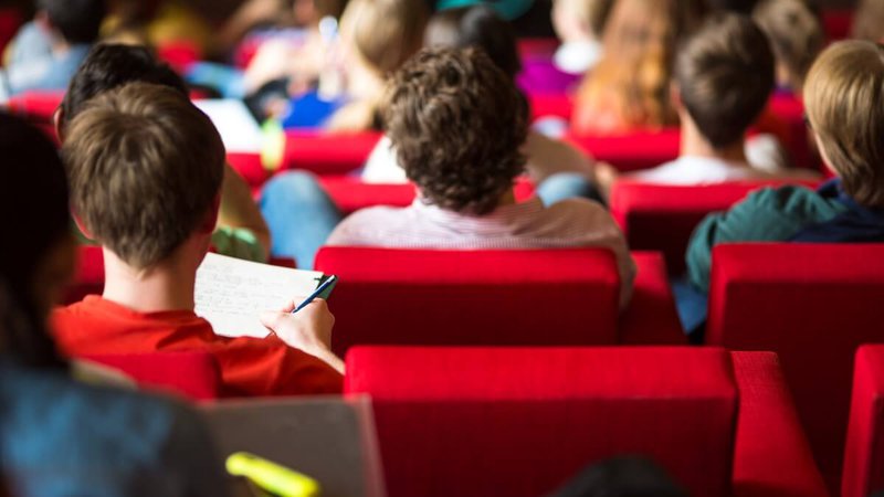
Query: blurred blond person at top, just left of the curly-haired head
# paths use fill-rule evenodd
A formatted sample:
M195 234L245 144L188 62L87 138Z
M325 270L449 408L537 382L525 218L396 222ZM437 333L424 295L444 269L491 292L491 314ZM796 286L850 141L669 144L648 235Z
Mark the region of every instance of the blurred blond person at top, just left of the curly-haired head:
M330 131L381 128L378 104L387 77L421 47L424 0L350 0L340 19L340 44L348 103L335 112Z

